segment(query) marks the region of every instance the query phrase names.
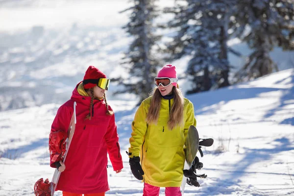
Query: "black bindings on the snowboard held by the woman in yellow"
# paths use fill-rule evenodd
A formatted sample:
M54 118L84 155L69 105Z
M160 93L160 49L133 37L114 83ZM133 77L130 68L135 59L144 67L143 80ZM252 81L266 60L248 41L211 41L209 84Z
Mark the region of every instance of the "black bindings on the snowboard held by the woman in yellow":
M201 147L210 147L213 145L214 140L212 138L208 138L208 139L199 139L199 147L198 147L198 151L201 155L201 157L203 157L203 152L201 150ZM201 170L203 168L203 163L199 162L199 158L196 156L192 166L189 170L184 170L184 176L187 177L187 184L189 184L190 186L195 186L195 187L200 187L199 182L197 181L197 177L199 178L206 178L207 175L206 174L196 174L196 170Z

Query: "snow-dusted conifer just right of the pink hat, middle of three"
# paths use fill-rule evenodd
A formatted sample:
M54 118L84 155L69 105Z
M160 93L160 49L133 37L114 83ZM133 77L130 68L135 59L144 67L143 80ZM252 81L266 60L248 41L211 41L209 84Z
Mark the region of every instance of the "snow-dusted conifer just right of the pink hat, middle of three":
M227 14L235 0L182 0L166 13L174 14L168 27L177 32L167 44L169 60L191 56L187 74L194 86L187 93L207 91L229 85L227 59Z

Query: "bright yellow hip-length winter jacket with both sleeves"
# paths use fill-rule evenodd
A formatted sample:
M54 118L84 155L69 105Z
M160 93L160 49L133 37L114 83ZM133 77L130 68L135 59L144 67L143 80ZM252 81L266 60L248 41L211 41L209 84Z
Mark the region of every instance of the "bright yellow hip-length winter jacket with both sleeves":
M168 128L173 98L161 98L157 124L147 124L151 97L139 106L132 123L129 157L140 156L143 181L157 187L180 187L185 163L184 144L190 125L196 126L193 103L184 98L184 127Z

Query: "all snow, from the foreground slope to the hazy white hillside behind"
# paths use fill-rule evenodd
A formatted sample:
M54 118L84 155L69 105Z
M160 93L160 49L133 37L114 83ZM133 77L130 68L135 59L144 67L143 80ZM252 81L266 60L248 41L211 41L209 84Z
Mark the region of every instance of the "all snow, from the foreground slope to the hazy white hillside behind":
M87 2L0 0L0 196L33 196L38 179L51 180L50 126L89 65L112 77L125 72L119 62L130 38L120 29L127 17L118 12L127 0ZM230 46L248 53L236 40ZM271 53L283 71L186 96L194 103L200 138L215 143L203 147L199 158L204 167L198 173L208 177L199 179L199 188L186 185L185 196L294 195L293 53L276 51ZM233 61L239 65L242 59ZM185 62L173 62L180 74ZM187 88L184 79L179 82ZM111 84L108 102L116 115L124 169L116 174L108 163L106 195L142 196L143 183L133 177L125 153L136 98L113 96L119 88Z

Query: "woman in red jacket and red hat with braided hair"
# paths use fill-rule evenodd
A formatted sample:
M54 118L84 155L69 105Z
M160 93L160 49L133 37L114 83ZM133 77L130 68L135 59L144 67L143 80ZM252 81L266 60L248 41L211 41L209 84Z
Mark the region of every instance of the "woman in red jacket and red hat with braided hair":
M63 191L63 196L104 196L109 190L107 152L113 170L119 173L123 169L114 113L105 97L108 85L106 75L90 66L52 123L50 166L61 172L56 190ZM63 140L59 138L67 135L72 117L76 124L65 165L56 152L63 150Z

